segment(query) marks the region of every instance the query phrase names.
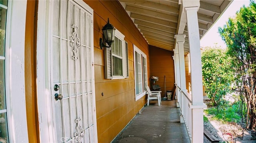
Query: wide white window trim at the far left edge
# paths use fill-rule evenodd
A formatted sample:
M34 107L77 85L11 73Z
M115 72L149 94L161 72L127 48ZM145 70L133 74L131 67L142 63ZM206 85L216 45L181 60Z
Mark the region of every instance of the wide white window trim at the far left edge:
M26 0L8 1L6 25L6 108L10 143L28 143L25 97Z

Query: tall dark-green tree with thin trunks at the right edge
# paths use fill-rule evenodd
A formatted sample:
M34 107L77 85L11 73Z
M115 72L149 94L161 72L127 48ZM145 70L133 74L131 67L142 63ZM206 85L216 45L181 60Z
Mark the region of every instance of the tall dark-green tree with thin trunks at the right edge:
M256 127L256 4L243 6L218 29L232 57L240 100L246 102L247 128Z

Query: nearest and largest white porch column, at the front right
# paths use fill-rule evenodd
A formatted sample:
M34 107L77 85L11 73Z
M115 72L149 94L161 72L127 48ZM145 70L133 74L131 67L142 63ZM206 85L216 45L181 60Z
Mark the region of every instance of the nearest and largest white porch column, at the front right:
M189 4L185 7L189 47L190 47L190 68L191 68L191 90L192 90L192 105L191 123L192 123L192 143L203 143L204 121L203 121L203 85L202 85L202 63L200 51L200 37L198 27L197 11L200 6L199 0L193 0L194 4ZM194 7L193 7L194 6Z

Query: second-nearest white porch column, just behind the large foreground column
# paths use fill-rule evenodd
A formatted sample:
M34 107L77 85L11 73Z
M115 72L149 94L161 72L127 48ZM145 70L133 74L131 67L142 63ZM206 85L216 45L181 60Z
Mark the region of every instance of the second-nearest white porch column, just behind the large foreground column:
M184 59L184 42L185 42L185 37L186 35L182 34L182 35L174 35L174 38L176 39L176 47L178 47L177 51L178 51L178 59L179 59L179 68L180 68L180 107L181 107L181 113L184 114L184 106L186 106L184 104L184 98L182 97L182 91L187 92L186 90L186 72L185 72L185 59ZM176 48L175 48L176 49ZM184 123L184 118L183 115L180 116L180 123Z

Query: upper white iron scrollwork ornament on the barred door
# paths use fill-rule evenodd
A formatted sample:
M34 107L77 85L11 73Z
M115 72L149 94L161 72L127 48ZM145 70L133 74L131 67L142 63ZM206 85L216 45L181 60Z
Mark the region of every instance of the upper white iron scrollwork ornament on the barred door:
M72 51L74 53L74 55L72 56L72 59L78 60L77 52L78 52L78 49L80 48L80 39L77 36L78 26L72 25L72 28L73 28L73 32L72 32L72 36L70 39L71 47L73 48Z

